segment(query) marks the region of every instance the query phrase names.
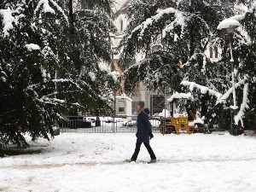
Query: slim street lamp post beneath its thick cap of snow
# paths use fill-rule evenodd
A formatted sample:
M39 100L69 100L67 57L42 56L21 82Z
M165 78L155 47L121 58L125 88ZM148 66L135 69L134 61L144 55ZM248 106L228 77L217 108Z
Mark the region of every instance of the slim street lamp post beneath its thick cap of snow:
M233 93L233 106L230 106L232 111L232 117L233 118L236 115L236 87L235 87L235 73L234 73L234 58L233 58L233 47L232 47L232 40L233 40L233 34L236 29L237 25L230 25L229 27L225 28L229 38L230 38L230 65L231 65L231 76L232 76L232 93ZM233 120L232 120L233 122ZM234 126L231 123L231 134L235 135Z

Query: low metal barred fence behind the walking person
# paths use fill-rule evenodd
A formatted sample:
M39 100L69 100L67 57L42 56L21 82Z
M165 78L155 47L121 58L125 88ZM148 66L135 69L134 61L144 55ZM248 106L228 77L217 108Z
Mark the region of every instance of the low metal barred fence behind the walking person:
M91 116L67 116L67 121L59 124L61 132L136 132L137 116L125 117L91 117ZM153 132L159 132L160 119L148 117Z

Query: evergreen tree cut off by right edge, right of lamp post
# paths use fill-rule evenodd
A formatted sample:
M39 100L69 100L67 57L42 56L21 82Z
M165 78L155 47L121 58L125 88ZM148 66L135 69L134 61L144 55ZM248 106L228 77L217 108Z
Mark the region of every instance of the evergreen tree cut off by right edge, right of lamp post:
M241 34L235 34L235 67L237 68L237 79L246 77L247 90L243 86L237 89L238 98L242 98L239 103L243 103L245 109L244 126L247 128L255 128L256 125L256 3L252 0L242 0L243 9L241 9ZM244 9L246 8L246 9ZM246 96L243 96L246 91Z

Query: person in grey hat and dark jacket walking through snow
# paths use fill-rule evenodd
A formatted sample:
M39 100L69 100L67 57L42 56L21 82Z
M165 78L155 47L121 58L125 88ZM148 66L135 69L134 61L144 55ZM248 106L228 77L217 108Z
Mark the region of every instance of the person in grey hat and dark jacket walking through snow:
M137 102L137 143L134 153L131 156L131 160L127 160L128 162L136 161L137 155L140 152L140 148L142 143L148 150L148 154L150 155L151 160L148 163L156 162L156 157L154 155L154 151L149 145L149 140L154 137L152 134L151 124L148 120L149 110L148 108L144 108L145 103L143 101Z

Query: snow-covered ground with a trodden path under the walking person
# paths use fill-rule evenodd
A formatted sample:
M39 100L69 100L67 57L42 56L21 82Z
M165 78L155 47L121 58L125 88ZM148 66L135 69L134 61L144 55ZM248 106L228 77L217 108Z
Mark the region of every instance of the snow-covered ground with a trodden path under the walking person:
M156 164L145 163L144 146L136 163L123 163L135 142L134 133L61 133L29 142L34 154L0 159L0 191L256 191L256 137L155 133Z

